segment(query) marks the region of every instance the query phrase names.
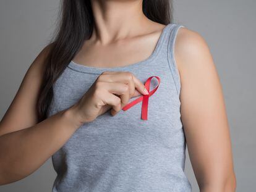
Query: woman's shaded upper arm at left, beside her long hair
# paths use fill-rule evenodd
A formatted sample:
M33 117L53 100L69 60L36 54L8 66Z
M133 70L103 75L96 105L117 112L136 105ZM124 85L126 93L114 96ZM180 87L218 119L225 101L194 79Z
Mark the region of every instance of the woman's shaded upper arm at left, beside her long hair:
M38 122L36 102L45 69L44 61L50 46L51 44L38 54L25 73L19 90L0 122L0 136L31 127Z

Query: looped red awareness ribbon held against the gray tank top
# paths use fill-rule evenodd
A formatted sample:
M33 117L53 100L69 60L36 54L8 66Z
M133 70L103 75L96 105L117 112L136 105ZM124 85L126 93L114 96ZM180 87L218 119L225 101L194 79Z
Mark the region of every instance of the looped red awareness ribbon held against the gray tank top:
M150 91L150 81L151 81L151 78L153 77L157 78L158 85L152 91ZM148 99L152 94L156 92L159 85L160 85L160 77L158 76L149 77L145 83L145 88L147 89L149 94L143 94L142 96L140 96L140 98L137 98L132 102L129 102L126 106L122 108L122 110L126 111L127 109L130 109L130 107L142 101L142 119L147 120L148 119Z

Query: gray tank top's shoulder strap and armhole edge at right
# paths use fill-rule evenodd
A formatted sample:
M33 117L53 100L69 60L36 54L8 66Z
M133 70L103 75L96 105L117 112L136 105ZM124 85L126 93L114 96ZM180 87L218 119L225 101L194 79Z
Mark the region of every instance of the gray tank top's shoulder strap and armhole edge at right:
M176 91L179 96L181 90L181 83L179 77L179 70L177 69L176 61L174 58L174 44L179 28L185 27L184 25L177 23L169 23L166 29L166 35L164 37L163 44L161 46L162 56L166 57L169 69L171 70L171 76L176 86Z

